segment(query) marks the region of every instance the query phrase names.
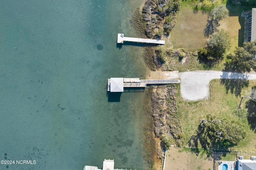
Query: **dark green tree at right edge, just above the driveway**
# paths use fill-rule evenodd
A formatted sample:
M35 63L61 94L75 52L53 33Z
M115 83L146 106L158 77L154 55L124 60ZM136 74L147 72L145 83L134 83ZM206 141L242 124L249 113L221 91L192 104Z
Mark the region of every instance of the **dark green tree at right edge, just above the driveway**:
M235 71L250 72L251 69L256 71L256 41L245 42L243 47L236 47L234 54L227 55Z

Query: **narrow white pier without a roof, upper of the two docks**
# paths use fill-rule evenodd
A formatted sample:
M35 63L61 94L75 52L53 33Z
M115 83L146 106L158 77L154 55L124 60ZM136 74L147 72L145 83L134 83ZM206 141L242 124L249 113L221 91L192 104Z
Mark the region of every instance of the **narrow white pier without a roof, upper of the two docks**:
M124 34L118 34L117 43L124 43L125 42L137 42L137 43L155 43L164 45L164 40L152 40L152 39L145 39L145 38L131 38L131 37L124 37Z

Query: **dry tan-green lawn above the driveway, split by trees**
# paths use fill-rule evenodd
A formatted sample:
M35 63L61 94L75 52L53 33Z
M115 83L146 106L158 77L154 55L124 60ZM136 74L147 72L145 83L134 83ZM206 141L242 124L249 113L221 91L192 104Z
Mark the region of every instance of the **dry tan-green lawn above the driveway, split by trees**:
M182 1L181 9L177 15L177 22L170 34L170 42L174 48L184 48L186 51L197 51L204 47L207 37L204 36L204 29L208 20L208 12L194 10L199 1ZM243 10L251 10L252 6L232 5L228 0L226 8L229 16L220 22L218 29L228 32L230 38L230 49L224 54L224 60L214 67L198 65L198 69L222 70L227 61L226 54L233 52L244 42L244 18L241 17Z

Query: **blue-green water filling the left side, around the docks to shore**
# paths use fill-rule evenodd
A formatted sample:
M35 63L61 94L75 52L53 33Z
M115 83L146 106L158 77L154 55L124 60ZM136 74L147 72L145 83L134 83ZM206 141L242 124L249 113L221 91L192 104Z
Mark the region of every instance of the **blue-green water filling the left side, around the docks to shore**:
M109 102L110 77L144 78L135 36L136 0L2 0L0 5L0 160L36 160L0 169L147 169L144 93ZM97 49L98 45L98 49ZM103 49L100 48L103 46Z

